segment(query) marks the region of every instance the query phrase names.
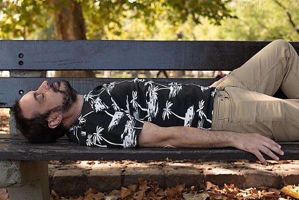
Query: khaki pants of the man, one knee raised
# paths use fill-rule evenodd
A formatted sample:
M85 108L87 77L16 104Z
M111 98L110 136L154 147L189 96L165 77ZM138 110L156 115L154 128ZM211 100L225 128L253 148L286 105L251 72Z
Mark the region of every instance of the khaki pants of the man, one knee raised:
M272 97L278 88L288 99ZM288 41L269 43L217 89L211 130L299 140L299 56Z

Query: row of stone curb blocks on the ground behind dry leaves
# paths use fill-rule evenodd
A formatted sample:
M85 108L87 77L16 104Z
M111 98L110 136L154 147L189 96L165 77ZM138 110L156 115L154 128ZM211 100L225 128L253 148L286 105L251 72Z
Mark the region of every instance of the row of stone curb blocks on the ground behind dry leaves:
M206 181L219 186L235 184L239 188L281 188L283 185L299 184L299 164L265 167L242 162L170 163L164 166L135 163L125 166L94 165L89 168L83 164L82 168L49 170L50 187L61 196L83 195L88 188L101 192L120 190L121 187L137 184L139 177L148 181L155 177L161 188L176 184L200 188Z

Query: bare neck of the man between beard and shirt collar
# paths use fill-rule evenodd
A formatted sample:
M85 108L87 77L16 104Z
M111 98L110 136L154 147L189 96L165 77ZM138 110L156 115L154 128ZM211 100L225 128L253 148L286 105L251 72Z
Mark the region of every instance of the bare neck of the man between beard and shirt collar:
M83 99L84 96L81 94L77 94L77 101L73 104L73 106L70 108L70 115L69 117L66 117L62 124L67 128L70 129L71 126L75 123L81 109L83 106Z

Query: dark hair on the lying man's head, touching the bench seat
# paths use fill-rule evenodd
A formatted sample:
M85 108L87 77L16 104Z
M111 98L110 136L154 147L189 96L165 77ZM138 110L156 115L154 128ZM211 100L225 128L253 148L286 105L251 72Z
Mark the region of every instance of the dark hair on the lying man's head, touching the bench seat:
M15 117L16 128L31 143L52 143L68 132L61 123L53 129L48 127L47 117L53 109L44 114L35 113L31 119L28 119L23 115L19 100L16 100L11 111Z

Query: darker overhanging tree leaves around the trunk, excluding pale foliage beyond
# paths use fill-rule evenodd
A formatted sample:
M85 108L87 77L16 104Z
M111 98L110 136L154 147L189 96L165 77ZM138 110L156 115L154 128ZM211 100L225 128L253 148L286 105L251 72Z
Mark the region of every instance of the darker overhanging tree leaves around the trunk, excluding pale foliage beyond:
M53 13L57 9L66 9L68 1L59 0L0 0L0 37L2 39L26 38L28 34L51 27ZM156 19L167 18L168 23L178 26L192 16L200 23L199 16L206 16L211 23L219 25L221 20L232 17L226 8L230 0L77 0L81 3L87 38L105 37L105 26L115 35L121 35L124 25L120 18L142 19L152 27ZM53 26L53 25L52 25ZM119 30L117 30L119 29ZM48 33L49 36L53 35ZM35 37L32 37L35 38Z

